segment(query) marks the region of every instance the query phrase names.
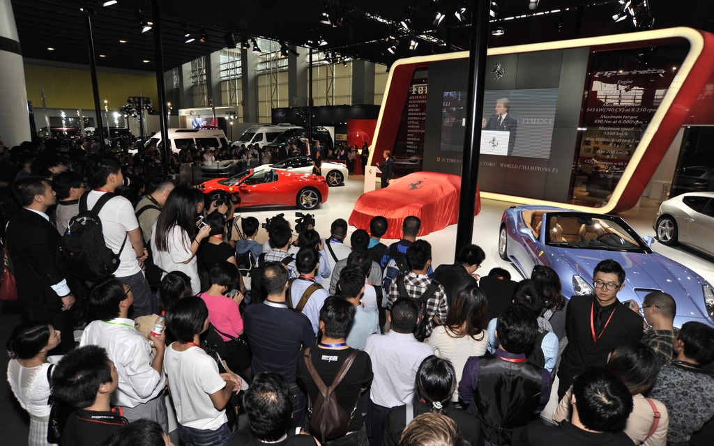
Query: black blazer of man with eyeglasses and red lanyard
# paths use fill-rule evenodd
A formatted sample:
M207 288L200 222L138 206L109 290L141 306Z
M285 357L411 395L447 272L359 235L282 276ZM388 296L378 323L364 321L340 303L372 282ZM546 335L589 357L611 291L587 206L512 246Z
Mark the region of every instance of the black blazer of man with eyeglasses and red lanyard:
M568 345L563 351L563 359L558 370L560 388L567 389L573 383L573 377L580 375L585 368L605 367L608 353L623 340L642 340L642 318L618 301L610 323L598 342L594 343L590 328L590 310L594 299L594 295L577 295L571 297L568 302L568 308L565 310L565 333L568 336ZM598 303L595 302L595 305ZM566 384L568 387L563 387Z

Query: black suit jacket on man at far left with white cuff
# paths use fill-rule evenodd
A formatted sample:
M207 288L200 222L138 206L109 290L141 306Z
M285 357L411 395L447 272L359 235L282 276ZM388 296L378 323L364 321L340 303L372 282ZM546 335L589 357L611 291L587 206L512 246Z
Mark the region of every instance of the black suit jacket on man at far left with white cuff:
M22 209L10 219L6 239L21 305L49 305L50 310L59 311L61 298L51 285L66 278L66 270L59 261L57 230L42 216Z

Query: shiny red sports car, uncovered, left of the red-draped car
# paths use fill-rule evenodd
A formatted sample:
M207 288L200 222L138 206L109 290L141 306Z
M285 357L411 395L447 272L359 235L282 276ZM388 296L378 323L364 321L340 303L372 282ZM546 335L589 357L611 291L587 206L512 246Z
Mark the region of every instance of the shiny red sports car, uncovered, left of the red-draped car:
M298 206L315 209L327 201L327 181L322 176L288 171L242 171L231 178L216 178L196 186L203 193L225 191L240 198L236 208Z

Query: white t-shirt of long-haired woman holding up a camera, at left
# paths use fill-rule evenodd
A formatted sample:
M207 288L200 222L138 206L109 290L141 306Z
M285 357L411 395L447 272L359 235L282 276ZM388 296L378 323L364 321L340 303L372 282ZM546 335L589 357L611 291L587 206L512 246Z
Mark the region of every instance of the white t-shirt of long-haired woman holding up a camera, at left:
M191 291L193 294L201 293L201 279L198 278L198 263L196 256L191 254L191 243L188 233L178 225L169 229L167 237L168 251L156 248L156 222L151 226L151 253L154 254L154 264L164 270L161 278L171 271L181 271L191 278ZM191 258L193 255L193 258ZM191 258L188 263L183 263Z

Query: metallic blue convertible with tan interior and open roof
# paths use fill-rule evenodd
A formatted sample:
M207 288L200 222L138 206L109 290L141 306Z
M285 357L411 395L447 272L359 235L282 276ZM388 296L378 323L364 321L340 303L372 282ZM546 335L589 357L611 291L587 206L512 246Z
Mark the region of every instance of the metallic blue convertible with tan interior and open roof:
M675 325L698 320L714 326L714 288L684 265L653 252L652 237L640 238L622 218L552 206L513 206L503 213L498 254L523 277L533 266L553 268L563 295L593 292L593 269L612 258L625 268L620 300L642 305L645 295L664 291L677 302Z

